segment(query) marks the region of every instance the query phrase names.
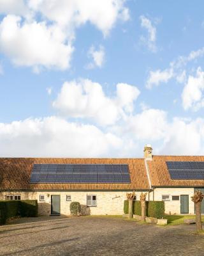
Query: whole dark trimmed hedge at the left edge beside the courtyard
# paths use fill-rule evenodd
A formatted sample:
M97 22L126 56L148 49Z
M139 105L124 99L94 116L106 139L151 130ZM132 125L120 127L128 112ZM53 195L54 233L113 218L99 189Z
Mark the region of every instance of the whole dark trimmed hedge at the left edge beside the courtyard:
M4 200L0 201L0 225L13 217L37 217L37 200Z

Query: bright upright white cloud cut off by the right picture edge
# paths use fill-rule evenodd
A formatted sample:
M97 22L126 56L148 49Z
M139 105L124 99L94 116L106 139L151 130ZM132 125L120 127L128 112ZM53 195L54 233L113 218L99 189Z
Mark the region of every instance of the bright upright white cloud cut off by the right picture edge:
M184 109L193 108L195 111L204 106L204 72L199 67L196 76L189 76L182 92Z

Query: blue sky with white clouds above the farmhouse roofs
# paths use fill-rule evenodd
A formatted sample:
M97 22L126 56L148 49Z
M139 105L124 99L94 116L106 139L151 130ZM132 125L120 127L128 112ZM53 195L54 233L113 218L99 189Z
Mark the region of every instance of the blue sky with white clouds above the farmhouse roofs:
M203 155L203 8L0 0L0 157Z

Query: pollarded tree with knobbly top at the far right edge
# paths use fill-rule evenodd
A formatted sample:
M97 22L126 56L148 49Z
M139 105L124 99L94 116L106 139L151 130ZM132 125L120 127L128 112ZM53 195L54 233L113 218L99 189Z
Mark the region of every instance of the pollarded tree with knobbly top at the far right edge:
M202 223L201 223L201 201L203 200L204 195L201 191L196 191L194 196L191 196L191 200L194 202L195 210L196 210L196 230L200 232L202 230Z

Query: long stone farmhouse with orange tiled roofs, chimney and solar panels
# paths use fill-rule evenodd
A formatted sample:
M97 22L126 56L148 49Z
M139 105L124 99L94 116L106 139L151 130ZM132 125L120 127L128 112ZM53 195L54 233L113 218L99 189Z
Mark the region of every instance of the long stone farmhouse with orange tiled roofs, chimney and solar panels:
M143 158L0 158L0 200L36 199L43 215L68 215L73 201L90 214L122 214L133 190L135 200L163 200L167 214L194 214L196 189L204 192L204 156L154 156L150 145Z

